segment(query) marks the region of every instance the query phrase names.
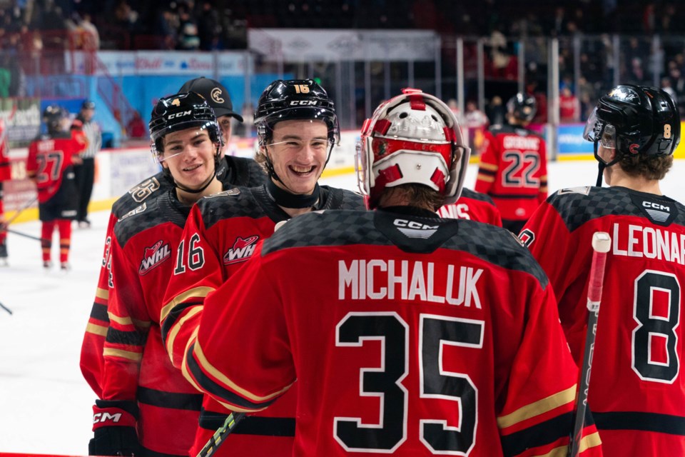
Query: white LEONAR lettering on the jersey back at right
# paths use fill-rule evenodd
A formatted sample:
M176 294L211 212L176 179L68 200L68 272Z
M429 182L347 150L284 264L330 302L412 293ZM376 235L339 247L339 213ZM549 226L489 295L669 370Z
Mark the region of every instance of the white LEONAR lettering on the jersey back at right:
M685 265L685 233L614 223L614 256L658 258Z

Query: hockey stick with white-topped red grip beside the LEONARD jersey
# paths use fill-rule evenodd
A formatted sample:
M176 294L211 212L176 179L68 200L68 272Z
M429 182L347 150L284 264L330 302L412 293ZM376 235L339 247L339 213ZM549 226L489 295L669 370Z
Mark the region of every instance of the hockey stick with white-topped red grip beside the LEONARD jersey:
M587 391L592 369L592 354L594 352L594 338L597 336L597 317L599 316L599 301L602 299L604 284L604 266L607 263L607 252L612 246L612 238L604 231L594 232L592 235L592 265L590 266L589 284L587 286L587 333L585 333L585 351L583 366L580 371L580 386L576 399L576 415L574 418L573 434L569 443L569 457L576 457L580 451L587 410Z

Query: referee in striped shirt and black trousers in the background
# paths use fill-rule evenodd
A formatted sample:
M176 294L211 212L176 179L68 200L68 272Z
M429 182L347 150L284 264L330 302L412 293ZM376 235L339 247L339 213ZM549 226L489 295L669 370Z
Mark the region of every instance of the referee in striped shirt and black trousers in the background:
M81 229L87 229L91 226L91 221L88 221L88 203L91 201L93 194L93 181L95 180L95 154L102 146L102 134L100 126L93 122L95 115L95 104L86 100L81 105L81 112L78 113L76 119L71 124L71 129L78 129L83 131L88 138L88 147L81 153L83 164L74 167L76 174L76 186L78 187L78 212L76 214L76 221Z

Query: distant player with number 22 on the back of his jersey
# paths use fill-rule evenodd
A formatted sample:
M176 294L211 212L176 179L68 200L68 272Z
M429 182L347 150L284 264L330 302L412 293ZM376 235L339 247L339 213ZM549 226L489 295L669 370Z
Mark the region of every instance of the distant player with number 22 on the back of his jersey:
M507 102L507 125L485 136L475 190L492 197L502 226L519 233L547 198L547 144L526 129L535 116L535 99L517 94Z

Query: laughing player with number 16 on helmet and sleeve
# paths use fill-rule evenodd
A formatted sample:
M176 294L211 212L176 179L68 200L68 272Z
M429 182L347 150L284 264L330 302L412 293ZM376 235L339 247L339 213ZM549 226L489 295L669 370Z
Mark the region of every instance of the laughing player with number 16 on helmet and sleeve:
M340 133L333 101L315 81L271 83L258 101L255 125L260 146L257 159L268 170L270 181L198 201L176 253L176 269L162 310L162 336L174 366L184 373L185 350L195 338L205 296L230 276L240 276L240 267L255 246L273 234L275 224L310 211L364 206L361 196L351 191L318 185ZM262 334L261 329L254 330ZM268 333L263 335L268 338ZM248 418L220 453L292 456L296 401L293 391L272 410ZM205 396L191 455L200 451L228 413Z

